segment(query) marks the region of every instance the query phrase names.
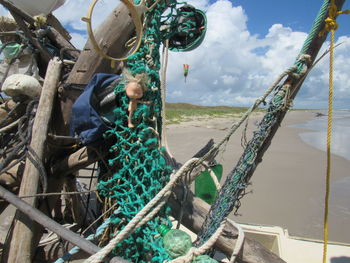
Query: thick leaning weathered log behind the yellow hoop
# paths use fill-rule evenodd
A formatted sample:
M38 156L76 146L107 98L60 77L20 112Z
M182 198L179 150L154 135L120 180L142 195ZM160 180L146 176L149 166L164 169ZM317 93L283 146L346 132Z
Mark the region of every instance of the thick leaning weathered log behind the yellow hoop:
M125 43L132 37L134 28L128 9L123 4L119 4L95 30L95 38L104 52L112 57L121 57L127 52ZM115 68L112 68L111 61L101 57L88 40L66 84L68 87L69 85L86 85L92 76L99 72L120 73L121 64L116 63ZM80 94L81 91L69 88L61 90L60 109L57 110L57 116L62 118L63 125L55 127L58 134L68 134L72 105Z

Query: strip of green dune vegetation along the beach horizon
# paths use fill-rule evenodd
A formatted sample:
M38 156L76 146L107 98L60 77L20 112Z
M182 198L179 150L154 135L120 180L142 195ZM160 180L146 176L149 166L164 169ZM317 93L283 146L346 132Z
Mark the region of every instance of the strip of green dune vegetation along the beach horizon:
M240 117L247 109L246 107L198 106L188 103L166 103L165 115L167 124L172 124L190 121L196 117Z

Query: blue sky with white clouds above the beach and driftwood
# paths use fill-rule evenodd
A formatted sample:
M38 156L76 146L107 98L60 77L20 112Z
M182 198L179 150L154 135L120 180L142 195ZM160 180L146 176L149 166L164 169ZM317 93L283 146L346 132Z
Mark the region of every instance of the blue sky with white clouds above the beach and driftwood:
M81 21L89 2L67 0L54 14L69 29L73 44L83 48L86 25ZM99 1L94 25L118 1ZM167 101L199 105L251 106L274 80L293 65L323 0L190 0L206 13L203 43L190 52L170 52ZM349 1L343 9L350 9ZM5 14L0 10L0 14ZM338 19L334 61L334 107L350 108L350 15ZM328 41L320 53L329 46ZM312 70L294 108L327 108L328 56ZM189 64L187 81L183 64Z

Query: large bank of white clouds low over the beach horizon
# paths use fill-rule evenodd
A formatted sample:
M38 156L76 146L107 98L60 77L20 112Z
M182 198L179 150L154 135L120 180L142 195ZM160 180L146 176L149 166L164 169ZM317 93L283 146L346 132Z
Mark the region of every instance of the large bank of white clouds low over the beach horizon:
M170 90L176 87L184 96L173 98L169 95L169 100L250 106L293 65L307 37L305 32L275 24L259 39L250 34L244 10L226 0L208 6L206 14L208 31L202 45L191 53L172 53L170 56L168 87ZM339 38L338 42L344 43L335 55L334 63L339 65L334 72L335 94L338 94L335 95L336 107L349 107L349 40L345 36ZM190 65L186 85L181 81L183 63ZM295 101L297 107L326 106L328 72L328 62L324 59L305 81Z

